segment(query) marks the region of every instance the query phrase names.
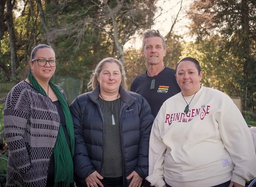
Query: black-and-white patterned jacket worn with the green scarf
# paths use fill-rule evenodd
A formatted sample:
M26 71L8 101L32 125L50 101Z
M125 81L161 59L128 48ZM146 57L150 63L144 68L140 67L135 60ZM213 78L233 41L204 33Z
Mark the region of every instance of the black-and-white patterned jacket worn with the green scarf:
M6 186L45 187L60 124L56 105L22 81L5 98L3 122L9 148Z

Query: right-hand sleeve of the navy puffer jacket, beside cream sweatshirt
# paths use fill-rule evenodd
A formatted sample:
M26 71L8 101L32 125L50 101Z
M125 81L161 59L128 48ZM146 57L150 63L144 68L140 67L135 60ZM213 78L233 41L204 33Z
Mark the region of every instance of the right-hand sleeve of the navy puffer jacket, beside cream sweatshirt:
M143 179L148 176L148 150L149 137L154 122L154 116L151 114L151 109L145 98L142 98L140 110L140 141L139 141L139 156L138 163L135 167L137 172Z

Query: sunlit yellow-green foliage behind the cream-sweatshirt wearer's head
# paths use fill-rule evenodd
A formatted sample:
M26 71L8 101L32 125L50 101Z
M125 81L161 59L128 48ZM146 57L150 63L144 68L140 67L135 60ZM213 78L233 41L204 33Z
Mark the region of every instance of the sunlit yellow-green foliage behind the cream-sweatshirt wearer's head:
M193 57L200 62L203 78L202 86L213 87L230 96L242 96L239 80L242 79L242 64L231 52L221 50L222 38L213 35L200 42L184 44L184 57Z

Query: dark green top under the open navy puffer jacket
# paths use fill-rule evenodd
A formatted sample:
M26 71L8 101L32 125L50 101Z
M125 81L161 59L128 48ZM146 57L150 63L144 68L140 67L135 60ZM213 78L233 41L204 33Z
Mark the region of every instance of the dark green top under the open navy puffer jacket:
M119 177L123 175L123 157L120 137L120 107L121 98L114 101L104 101L99 97L104 118L104 151L103 151L103 177ZM114 115L115 125L112 124L111 111Z

